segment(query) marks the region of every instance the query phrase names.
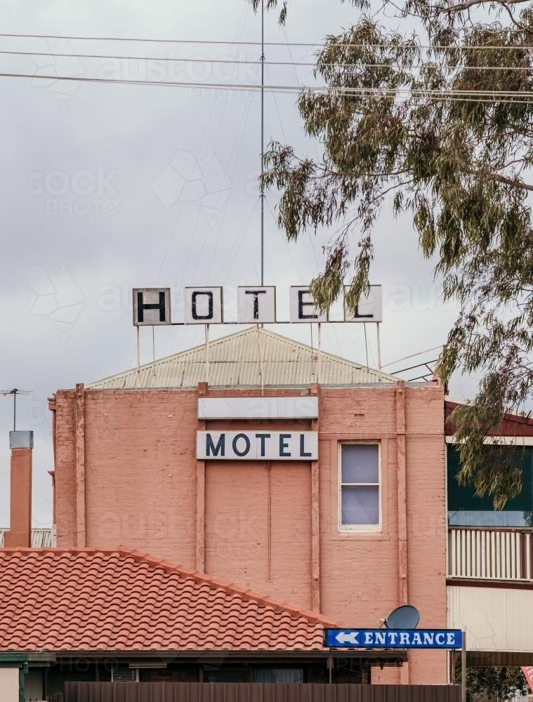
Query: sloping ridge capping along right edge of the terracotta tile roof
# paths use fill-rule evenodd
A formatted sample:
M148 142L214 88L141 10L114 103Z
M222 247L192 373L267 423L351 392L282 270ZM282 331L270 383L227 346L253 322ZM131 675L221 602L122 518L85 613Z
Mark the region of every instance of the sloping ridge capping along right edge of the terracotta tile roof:
M273 607L277 612L287 611L293 617L301 616L305 619L308 619L309 623L312 625L315 625L316 623L320 622L323 625L329 625L332 627L341 626L341 624L339 624L334 619L331 619L330 617L325 616L324 614L320 614L319 612L314 612L310 609L301 609L290 604L289 602L277 600L275 597L270 597L270 595L263 595L261 594L261 592L255 592L254 590L251 590L249 588L242 588L239 585L235 585L234 583L228 583L228 581L223 581L220 578L210 576L206 573L202 573L201 571L192 570L191 568L187 568L182 565L176 565L169 561L164 561L163 559L155 558L154 556L151 556L148 553L143 553L138 550L128 548L127 546L120 545L118 550L119 552L124 552L133 556L138 561L145 561L157 567L164 567L164 569L167 572L176 572L185 577L194 578L194 580L197 583L206 583L207 585L211 585L211 587L214 589L221 589L225 590L225 592L228 592L230 594L239 595L243 598L244 601L254 600L254 602L257 602L261 607L270 605L270 607Z

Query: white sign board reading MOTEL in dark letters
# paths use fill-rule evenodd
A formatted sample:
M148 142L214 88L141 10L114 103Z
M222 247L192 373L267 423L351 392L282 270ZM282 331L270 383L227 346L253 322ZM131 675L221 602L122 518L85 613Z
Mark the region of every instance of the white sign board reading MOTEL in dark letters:
M196 457L209 461L317 461L318 432L197 432Z

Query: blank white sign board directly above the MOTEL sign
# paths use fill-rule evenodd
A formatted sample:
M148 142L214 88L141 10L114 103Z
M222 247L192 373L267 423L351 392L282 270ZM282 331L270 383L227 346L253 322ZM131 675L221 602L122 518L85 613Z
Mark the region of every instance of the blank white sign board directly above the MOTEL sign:
M199 419L316 419L318 397L199 397Z

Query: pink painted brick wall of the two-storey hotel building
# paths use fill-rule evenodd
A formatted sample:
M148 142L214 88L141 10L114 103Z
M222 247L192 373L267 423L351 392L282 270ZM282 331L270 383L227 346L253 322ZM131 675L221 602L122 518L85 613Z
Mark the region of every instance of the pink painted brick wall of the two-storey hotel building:
M379 626L380 618L400 604L396 388L320 392L321 610L346 625ZM444 397L442 388L431 384L406 388L405 398L408 599L421 610L421 625L445 627ZM195 567L196 402L192 390L86 392L86 545L122 543ZM67 546L75 545L76 531L73 392L58 392L57 406L58 544ZM229 423L210 426L229 428ZM284 426L294 427L270 425ZM231 428L249 425L236 422ZM379 533L338 531L341 440L381 443ZM206 462L206 572L309 608L310 464L271 464L270 536L268 495L267 464ZM412 651L409 660L410 683L446 682L442 651ZM392 680L397 671L376 673L376 682L378 677Z

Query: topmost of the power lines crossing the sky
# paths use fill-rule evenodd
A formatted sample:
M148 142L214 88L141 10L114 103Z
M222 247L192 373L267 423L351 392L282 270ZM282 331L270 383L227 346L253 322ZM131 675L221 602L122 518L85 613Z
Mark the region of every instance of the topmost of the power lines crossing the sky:
M16 39L65 39L67 41L139 41L151 44L219 44L233 45L233 41L222 41L218 39L143 39L142 37L70 37L60 34L6 34L0 33L0 37ZM239 41L242 46L261 46L261 41ZM450 46L448 44L350 44L339 42L336 44L325 44L324 42L308 41L265 41L264 46L327 46L342 48L388 48L397 51L398 49L429 49L431 51L533 51L533 46Z

